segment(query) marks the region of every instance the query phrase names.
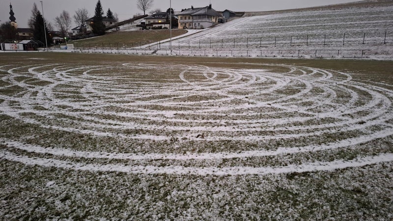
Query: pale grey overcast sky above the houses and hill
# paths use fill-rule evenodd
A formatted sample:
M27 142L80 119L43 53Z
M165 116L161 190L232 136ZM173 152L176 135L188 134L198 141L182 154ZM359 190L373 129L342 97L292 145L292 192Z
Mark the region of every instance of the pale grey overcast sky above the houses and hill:
M78 8L86 8L90 16L94 15L95 5L98 0L43 0L44 17L51 22L56 29L54 19L59 16L62 10L75 14ZM345 3L356 0L171 0L172 8L180 11L182 8L204 7L212 3L212 7L217 11L225 9L232 11L271 11L281 9L303 8L318 5ZM9 22L9 4L12 4L18 28L28 28L28 19L31 16L31 8L35 2L41 10L39 0L0 0L0 20L1 23ZM104 13L111 8L113 13L117 13L120 21L131 18L137 13L143 13L137 8L137 0L101 0ZM166 11L169 8L169 0L154 0L151 9L159 8ZM147 13L147 12L146 12ZM73 19L72 19L73 20ZM72 21L72 27L75 23Z

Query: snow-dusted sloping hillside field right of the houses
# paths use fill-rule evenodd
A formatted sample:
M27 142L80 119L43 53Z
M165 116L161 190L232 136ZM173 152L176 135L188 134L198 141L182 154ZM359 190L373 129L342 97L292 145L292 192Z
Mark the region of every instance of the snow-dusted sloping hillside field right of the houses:
M180 47L175 53L181 55L309 57L320 50L314 56L342 57L365 50L366 56L392 59L393 4L243 17L176 40L172 46ZM160 47L168 48L168 44ZM356 51L340 55L337 50Z

